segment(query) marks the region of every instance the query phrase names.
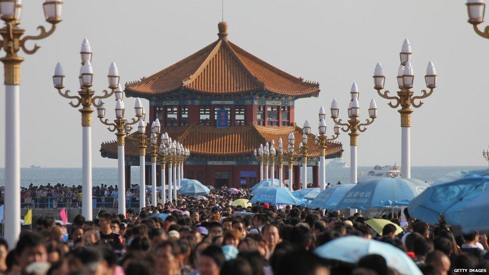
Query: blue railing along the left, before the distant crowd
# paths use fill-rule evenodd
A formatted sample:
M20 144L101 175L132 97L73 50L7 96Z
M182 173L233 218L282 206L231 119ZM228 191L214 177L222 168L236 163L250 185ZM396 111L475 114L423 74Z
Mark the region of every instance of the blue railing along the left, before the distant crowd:
M0 201L0 205L4 204ZM81 208L81 198L21 198L21 208L43 208L43 209L61 209L61 208ZM95 208L117 208L117 198L114 197L93 197L92 205ZM139 197L126 197L127 208L138 208Z

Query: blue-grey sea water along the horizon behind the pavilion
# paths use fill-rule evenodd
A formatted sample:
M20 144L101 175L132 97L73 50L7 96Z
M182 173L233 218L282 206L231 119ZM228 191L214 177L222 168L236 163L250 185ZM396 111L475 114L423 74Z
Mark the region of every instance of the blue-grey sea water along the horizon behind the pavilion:
M312 167L308 167L308 182L312 182ZM486 166L413 166L411 167L411 177L426 182L434 182L441 176L455 171L471 171L487 169ZM368 172L372 167L358 167L358 173ZM5 168L0 168L0 186L5 185ZM336 184L349 183L350 168L326 167L326 182ZM117 168L93 168L93 185L107 184L108 186L117 185ZM82 168L21 168L21 186L27 187L34 185L55 185L62 183L67 186L78 186L82 184ZM208 184L203 182L204 184ZM131 184L139 184L139 167L131 167ZM146 183L150 184L150 183Z

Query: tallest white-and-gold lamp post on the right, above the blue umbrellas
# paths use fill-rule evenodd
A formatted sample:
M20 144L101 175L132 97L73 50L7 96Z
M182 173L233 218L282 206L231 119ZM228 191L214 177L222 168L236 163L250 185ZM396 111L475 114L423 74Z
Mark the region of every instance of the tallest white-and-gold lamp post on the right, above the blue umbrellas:
M389 91L381 92L384 89L385 76L382 69L382 65L377 63L374 71L374 89L377 93L389 101L393 100L394 103L389 102L388 105L391 108L397 108L401 106L398 111L401 114L401 176L403 178L411 178L411 113L414 111L410 107L419 108L423 105L421 99L429 97L433 93L433 89L436 88L436 70L433 63L428 62L426 68L426 75L424 80L426 90L421 91L420 96L414 96L414 92L411 91L414 82L414 72L410 62L411 59L411 45L406 39L402 44L401 52L399 53L400 65L397 70L397 86L399 91L397 96L389 96ZM418 103L414 102L419 100Z

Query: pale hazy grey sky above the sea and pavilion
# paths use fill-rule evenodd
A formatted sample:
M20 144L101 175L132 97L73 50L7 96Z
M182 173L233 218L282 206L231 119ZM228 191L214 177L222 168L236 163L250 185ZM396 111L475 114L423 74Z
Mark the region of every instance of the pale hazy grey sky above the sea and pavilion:
M24 3L22 27L37 34L44 24L42 0ZM400 118L373 89L377 62L386 74L386 87L396 88L398 53L404 38L412 46L414 91L425 86L428 61L438 73L438 88L412 116L412 165L485 165L489 40L478 37L466 23L463 0L288 1L225 0L228 39L270 64L306 80L319 81L319 98L296 101L296 122L308 118L317 126L317 113L336 98L346 116L350 86L360 89L361 118L371 98L378 118L359 137L359 165L400 163ZM149 76L193 54L217 39L220 0L83 0L65 1L63 22L41 40L35 55L22 64L21 164L81 167L81 115L52 86L56 62L65 69L66 85L77 91L80 44L90 41L94 52L94 88L107 86L115 61L121 83ZM484 25L484 24L482 24ZM1 54L5 55L4 52ZM3 67L2 74L3 76ZM2 81L3 82L3 81ZM3 89L3 88L2 88ZM5 108L5 95L0 109ZM148 101L143 100L148 106ZM133 98L126 114L133 114ZM106 103L107 117L114 102ZM115 139L94 113L93 165L115 167L100 156L100 143ZM327 121L328 132L333 123ZM0 127L0 167L5 166L5 121ZM343 158L349 161L349 137L343 133Z

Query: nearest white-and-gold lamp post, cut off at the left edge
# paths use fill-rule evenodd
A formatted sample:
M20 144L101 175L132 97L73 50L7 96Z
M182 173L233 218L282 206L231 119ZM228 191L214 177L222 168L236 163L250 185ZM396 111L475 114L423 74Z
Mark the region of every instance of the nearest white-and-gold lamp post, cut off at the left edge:
M21 63L24 58L17 55L22 49L24 53L32 55L39 50L37 44L32 49L26 47L26 42L41 40L52 35L56 24L61 22L62 4L60 0L46 0L43 4L46 22L51 29L46 31L39 26L40 34L37 36L24 36L25 30L19 27L22 18L23 5L20 0L0 0L0 18L5 27L0 29L0 48L6 55L0 58L4 63L4 83L6 88L5 103L5 238L9 246L15 247L21 232L19 220L21 218L21 168L20 168L20 84Z

